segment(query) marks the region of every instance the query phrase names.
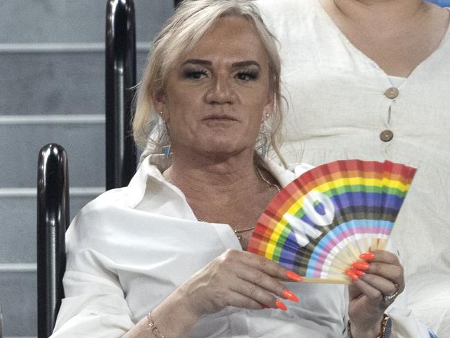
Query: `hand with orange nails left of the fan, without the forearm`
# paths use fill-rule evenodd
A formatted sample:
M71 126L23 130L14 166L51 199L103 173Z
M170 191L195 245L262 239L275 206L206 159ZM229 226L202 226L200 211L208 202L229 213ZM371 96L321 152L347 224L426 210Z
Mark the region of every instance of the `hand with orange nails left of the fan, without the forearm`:
M301 281L301 277L254 253L228 249L181 285L179 291L198 317L227 306L287 310L278 297L291 301L298 298L280 280Z

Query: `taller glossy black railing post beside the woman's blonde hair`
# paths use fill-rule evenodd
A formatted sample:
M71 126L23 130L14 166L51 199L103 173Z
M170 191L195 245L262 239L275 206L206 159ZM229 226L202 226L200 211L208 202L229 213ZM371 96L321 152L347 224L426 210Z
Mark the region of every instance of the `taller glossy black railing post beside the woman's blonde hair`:
M126 186L136 171L131 134L136 85L133 0L108 0L106 17L106 189Z

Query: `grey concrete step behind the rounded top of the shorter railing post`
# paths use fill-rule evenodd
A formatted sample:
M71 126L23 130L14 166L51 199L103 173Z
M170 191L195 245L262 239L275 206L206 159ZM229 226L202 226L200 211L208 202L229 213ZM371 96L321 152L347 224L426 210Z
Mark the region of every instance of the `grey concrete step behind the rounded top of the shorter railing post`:
M65 122L17 121L0 118L0 188L36 186L37 154L47 143L59 143L69 155L71 186L105 184L103 116L70 116ZM78 116L79 117L79 116Z

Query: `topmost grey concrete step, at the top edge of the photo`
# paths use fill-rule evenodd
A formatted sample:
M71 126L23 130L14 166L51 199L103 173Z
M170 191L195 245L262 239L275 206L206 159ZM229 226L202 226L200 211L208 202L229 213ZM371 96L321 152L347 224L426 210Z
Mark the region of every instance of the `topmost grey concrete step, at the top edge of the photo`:
M102 42L107 1L3 0L0 44ZM136 40L150 42L172 14L172 0L134 0Z

